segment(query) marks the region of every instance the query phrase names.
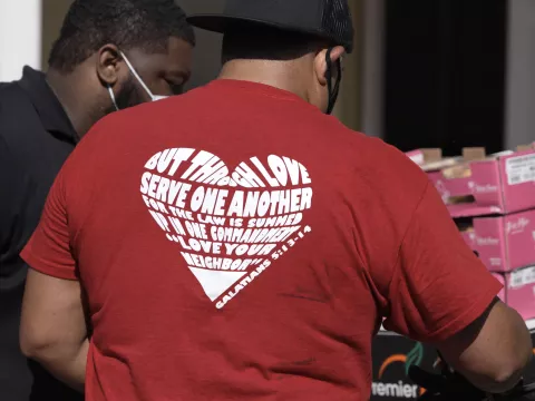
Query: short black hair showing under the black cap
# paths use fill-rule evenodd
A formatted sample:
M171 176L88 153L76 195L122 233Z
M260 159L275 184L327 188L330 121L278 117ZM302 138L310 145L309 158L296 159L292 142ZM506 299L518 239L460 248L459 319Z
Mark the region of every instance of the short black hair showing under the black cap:
M256 25L236 25L223 37L223 63L242 60L295 60L329 46L310 35Z

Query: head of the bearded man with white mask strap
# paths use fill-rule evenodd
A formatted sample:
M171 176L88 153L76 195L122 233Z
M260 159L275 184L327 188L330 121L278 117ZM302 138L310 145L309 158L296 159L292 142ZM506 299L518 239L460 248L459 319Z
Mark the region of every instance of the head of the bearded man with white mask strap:
M194 46L174 0L75 0L50 52L49 76L74 78L75 95L101 116L181 94Z

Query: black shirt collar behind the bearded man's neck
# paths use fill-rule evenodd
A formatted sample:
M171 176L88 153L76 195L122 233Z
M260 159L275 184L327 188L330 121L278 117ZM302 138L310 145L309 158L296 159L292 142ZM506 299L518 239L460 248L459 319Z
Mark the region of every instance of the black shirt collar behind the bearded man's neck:
M29 96L45 129L76 144L78 135L56 94L47 84L45 74L27 66L19 85Z

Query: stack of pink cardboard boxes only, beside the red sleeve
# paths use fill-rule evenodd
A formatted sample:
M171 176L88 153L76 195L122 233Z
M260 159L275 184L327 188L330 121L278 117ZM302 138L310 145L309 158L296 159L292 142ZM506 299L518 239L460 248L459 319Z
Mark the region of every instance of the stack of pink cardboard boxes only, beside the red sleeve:
M500 297L535 317L535 147L487 156L466 148L407 154L429 176L468 246L502 283ZM477 283L474 283L477 285Z

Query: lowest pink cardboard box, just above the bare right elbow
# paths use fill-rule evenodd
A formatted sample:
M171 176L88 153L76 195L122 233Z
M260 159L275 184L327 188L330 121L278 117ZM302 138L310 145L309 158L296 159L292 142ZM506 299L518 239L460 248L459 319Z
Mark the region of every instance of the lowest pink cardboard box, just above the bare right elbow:
M504 284L499 299L516 310L524 320L535 317L535 267L494 274Z

